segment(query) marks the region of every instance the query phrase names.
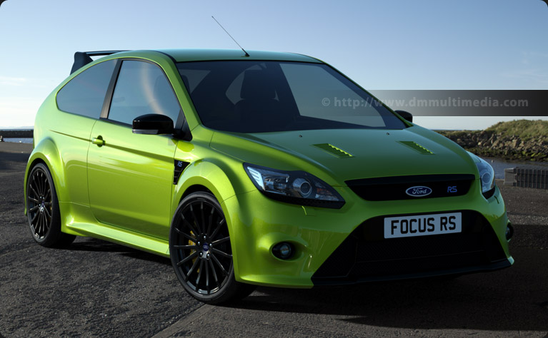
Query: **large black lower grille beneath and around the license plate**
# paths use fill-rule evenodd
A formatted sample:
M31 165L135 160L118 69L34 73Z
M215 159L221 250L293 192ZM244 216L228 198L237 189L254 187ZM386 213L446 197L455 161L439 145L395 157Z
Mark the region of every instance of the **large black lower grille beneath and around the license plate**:
M319 267L312 282L357 282L398 275L466 270L506 259L489 222L462 210L462 232L384 239L384 217L359 225ZM424 214L422 214L424 215Z

